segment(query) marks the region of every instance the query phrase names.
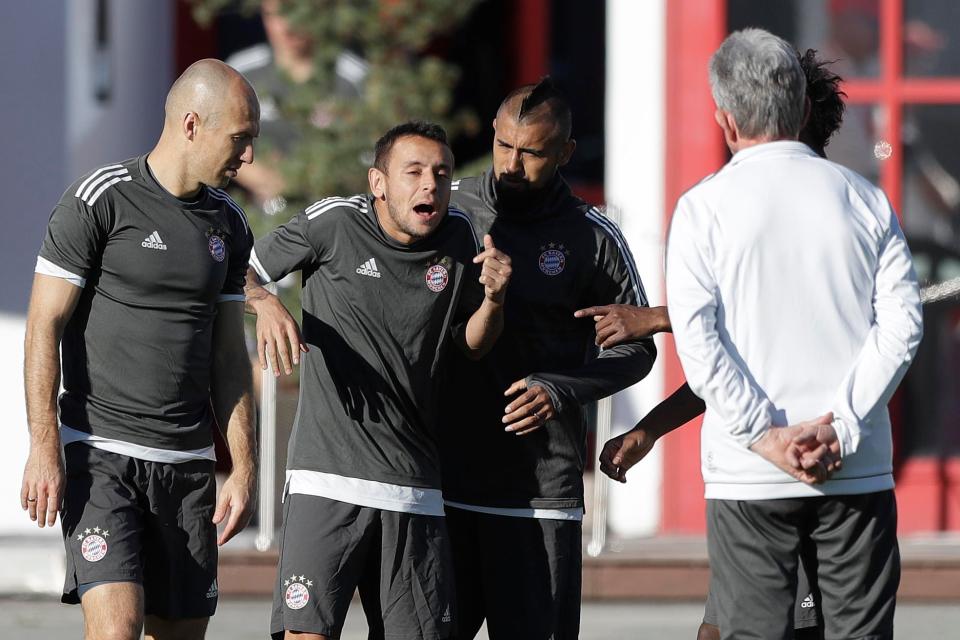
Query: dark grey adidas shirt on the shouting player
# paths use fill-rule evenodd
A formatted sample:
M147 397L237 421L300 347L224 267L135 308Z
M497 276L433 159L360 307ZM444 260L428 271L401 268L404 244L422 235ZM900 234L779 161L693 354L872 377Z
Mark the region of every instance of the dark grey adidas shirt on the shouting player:
M300 406L288 469L440 486L437 393L450 336L479 307L477 238L450 209L411 245L370 196L328 198L257 241L251 264L303 277Z

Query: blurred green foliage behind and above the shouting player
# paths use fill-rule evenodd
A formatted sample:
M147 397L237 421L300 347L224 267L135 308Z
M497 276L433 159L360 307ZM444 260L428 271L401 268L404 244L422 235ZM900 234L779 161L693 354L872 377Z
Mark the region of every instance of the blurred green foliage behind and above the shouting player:
M239 7L253 14L258 0L190 0L195 18L209 23ZM453 137L476 127L469 112L452 112L458 70L427 47L462 22L480 0L282 0L281 13L314 43L314 73L295 86L282 116L298 125L294 147L275 160L269 142L257 144L257 162L278 162L287 206L274 216L237 198L256 237L286 222L311 202L367 191L373 146L388 129L407 120L430 120ZM345 49L369 63L359 97L335 92L335 65ZM300 315L299 286L281 288L287 308Z

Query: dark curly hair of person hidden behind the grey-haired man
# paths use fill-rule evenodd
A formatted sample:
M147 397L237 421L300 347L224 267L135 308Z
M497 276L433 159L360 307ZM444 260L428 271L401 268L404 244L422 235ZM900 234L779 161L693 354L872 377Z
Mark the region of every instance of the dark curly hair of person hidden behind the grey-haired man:
M810 99L810 115L800 131L800 141L826 156L824 149L830 144L830 136L840 128L847 97L840 90L840 76L827 68L832 61L817 59L814 49L807 49L802 55L798 52L800 67L807 76L807 97Z

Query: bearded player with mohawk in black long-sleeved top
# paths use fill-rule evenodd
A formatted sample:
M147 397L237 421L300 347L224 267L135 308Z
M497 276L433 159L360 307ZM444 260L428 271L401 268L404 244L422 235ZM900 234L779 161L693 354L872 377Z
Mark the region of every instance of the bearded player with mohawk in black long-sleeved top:
M575 638L580 625L584 405L643 378L641 339L597 353L584 303L646 305L617 226L559 173L576 146L549 78L511 92L493 121L493 167L451 204L513 258L500 340L450 353L441 457L459 637Z

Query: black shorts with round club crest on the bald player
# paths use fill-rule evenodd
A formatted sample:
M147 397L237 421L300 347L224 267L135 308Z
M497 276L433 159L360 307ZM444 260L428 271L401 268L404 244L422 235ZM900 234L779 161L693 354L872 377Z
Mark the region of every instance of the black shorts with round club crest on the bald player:
M83 442L64 448L67 575L61 600L92 582L143 585L144 612L205 618L217 608L214 462L148 462Z

